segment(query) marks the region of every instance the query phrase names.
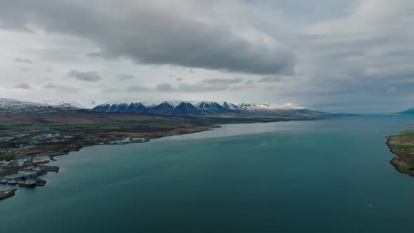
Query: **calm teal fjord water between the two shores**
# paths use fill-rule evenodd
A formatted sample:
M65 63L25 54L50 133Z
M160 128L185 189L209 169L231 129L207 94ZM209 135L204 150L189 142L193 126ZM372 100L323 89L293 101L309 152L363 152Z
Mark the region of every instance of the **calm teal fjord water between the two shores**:
M0 232L411 232L385 136L413 116L227 125L58 157L0 202ZM1 187L2 188L2 187Z

